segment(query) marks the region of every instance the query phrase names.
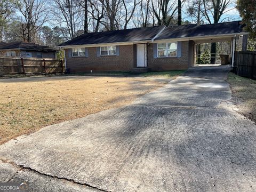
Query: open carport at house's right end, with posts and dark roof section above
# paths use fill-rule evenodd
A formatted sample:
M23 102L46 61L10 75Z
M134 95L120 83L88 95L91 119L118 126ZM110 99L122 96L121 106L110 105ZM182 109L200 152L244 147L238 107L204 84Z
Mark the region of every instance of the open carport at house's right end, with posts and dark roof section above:
M243 24L242 21L232 21L209 25L193 24L167 27L155 38L154 42L188 41L189 66L195 65L196 44L230 42L229 51L227 53L230 54L230 63L233 67L237 38L248 34L244 31L244 26L245 24Z

